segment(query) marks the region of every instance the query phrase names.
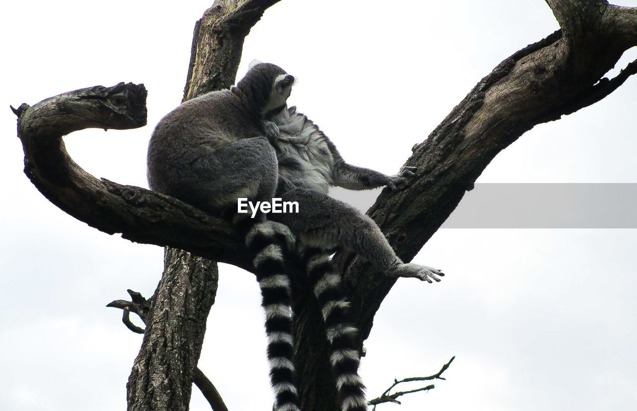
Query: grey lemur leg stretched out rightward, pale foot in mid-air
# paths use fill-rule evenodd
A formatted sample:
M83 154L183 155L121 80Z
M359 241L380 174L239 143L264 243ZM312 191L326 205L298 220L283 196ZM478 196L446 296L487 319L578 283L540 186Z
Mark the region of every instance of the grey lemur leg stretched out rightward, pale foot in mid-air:
M376 223L342 201L301 187L283 193L281 198L297 201L299 213L272 213L270 218L290 227L304 243L350 249L378 270L396 277L417 277L433 282L440 281L438 276L444 275L431 267L404 264Z

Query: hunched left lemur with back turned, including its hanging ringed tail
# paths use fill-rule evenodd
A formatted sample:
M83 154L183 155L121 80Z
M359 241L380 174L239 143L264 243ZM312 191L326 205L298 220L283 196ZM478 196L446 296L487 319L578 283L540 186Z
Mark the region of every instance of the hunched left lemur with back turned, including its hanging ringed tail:
M278 165L272 123L264 113L285 105L294 77L273 64L250 68L236 87L204 94L168 113L148 146L148 184L206 212L227 216L237 199L272 201ZM283 257L294 236L263 214L233 222L254 253L266 312L268 360L276 411L298 411L292 354L290 280Z

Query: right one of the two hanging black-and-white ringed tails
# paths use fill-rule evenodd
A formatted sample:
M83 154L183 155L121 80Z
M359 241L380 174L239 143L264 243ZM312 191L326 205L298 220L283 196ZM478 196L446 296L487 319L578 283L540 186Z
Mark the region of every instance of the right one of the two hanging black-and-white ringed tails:
M365 386L358 375L361 361L357 349L358 329L349 322L349 303L341 286L341 276L324 250L305 249L303 263L325 322L341 411L366 411Z

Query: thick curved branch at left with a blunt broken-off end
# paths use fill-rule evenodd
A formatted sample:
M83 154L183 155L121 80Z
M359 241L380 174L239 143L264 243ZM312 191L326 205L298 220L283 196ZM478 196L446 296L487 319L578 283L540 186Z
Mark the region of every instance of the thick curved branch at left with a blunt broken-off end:
M171 245L252 269L228 222L154 191L97 180L66 152L62 136L88 127L129 129L146 124L143 85L120 83L51 97L17 110L24 172L65 212L108 234L138 243Z

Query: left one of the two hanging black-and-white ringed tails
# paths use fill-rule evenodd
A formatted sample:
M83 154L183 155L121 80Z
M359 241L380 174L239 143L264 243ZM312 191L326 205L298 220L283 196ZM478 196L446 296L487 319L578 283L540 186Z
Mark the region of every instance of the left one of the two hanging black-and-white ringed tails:
M245 221L236 221L239 229L246 225ZM248 229L245 240L254 255L254 267L261 287L261 305L266 312L270 380L276 399L274 409L299 411L294 383L290 278L285 274L283 260L285 247L294 238L283 224L262 221Z

